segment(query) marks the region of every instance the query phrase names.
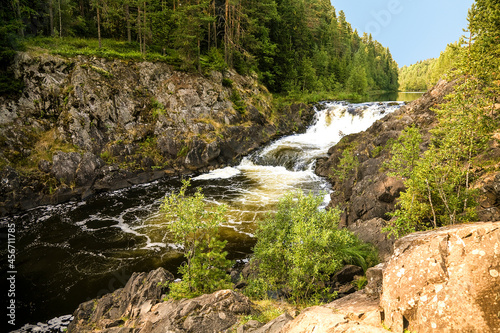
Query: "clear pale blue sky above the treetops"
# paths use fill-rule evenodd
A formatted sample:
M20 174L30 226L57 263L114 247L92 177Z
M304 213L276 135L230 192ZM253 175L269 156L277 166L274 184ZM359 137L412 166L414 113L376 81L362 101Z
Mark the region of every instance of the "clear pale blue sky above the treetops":
M353 29L371 33L400 67L439 57L467 28L474 0L331 0Z

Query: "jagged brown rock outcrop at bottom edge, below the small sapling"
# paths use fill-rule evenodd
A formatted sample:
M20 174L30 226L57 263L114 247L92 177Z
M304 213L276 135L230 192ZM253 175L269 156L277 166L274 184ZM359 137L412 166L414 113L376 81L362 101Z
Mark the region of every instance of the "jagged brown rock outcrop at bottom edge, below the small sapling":
M222 332L254 312L240 293L220 290L193 299L163 301L173 275L163 268L134 273L123 289L80 304L68 332Z

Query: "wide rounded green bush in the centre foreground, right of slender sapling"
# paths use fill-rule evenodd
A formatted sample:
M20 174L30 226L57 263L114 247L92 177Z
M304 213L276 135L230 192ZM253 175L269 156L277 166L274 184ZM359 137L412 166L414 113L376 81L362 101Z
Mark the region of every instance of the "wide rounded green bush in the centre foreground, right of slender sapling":
M252 292L285 290L296 302L328 298L324 283L346 263L366 269L376 261L371 246L338 229L340 211L319 209L323 198L302 192L286 194L277 212L258 223L255 260L260 280ZM253 283L253 284L252 284Z

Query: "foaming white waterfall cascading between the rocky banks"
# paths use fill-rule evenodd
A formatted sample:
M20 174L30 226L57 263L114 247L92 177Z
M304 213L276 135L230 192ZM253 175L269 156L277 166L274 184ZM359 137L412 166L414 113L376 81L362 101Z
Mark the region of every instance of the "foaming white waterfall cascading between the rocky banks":
M326 156L328 149L344 135L367 129L399 107L399 103L324 103L305 133L279 139L245 157L238 166L214 170L194 180L217 181L232 177L252 180L253 185L236 197L216 200L229 205L233 228L238 229L235 224L252 223L262 218L287 191L302 189L315 194L328 191L326 180L314 173L316 159Z

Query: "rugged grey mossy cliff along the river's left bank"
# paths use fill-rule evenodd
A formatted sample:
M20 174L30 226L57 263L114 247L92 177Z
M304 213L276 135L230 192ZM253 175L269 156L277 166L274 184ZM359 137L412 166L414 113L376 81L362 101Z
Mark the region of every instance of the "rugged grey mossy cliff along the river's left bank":
M276 110L255 77L31 50L0 97L0 215L234 164L312 109Z

